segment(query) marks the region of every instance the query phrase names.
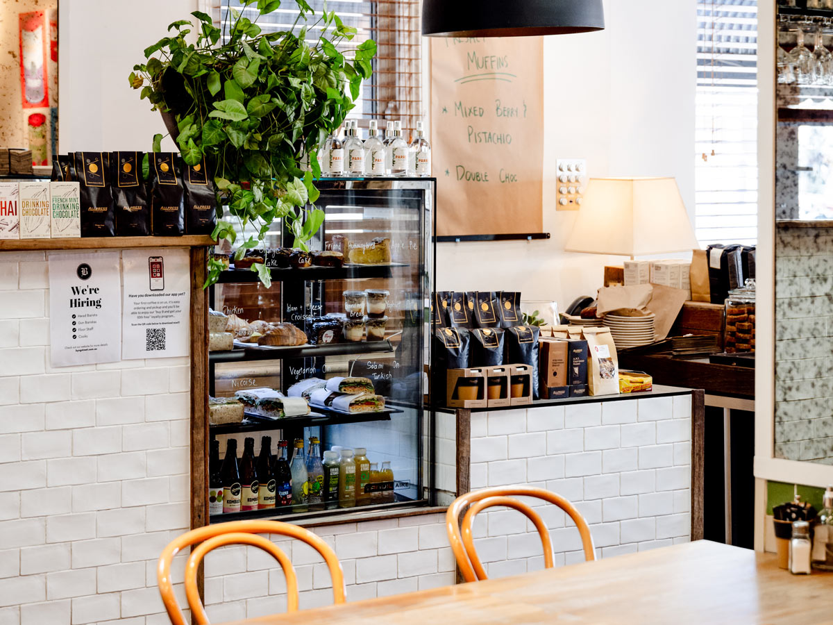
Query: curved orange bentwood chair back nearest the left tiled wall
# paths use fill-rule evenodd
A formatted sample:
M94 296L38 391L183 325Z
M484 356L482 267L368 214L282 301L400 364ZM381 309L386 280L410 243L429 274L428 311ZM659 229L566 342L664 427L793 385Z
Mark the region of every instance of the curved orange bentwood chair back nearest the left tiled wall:
M164 551L162 551L157 566L157 582L159 584L159 592L162 594L162 602L165 604L167 616L171 619L172 625L188 625L188 623L177 603L177 597L173 593L171 563L178 552L193 545L197 545L197 547L192 549L191 556L188 557L185 567L185 596L187 597L188 606L191 607L194 622L197 625L209 625L205 608L202 607L202 602L200 601L199 589L197 588L197 570L200 567L202 558L206 557L208 552L224 545L252 545L252 547L259 547L271 553L281 565L283 573L287 578L287 612L297 612L298 582L295 569L292 567L292 562L290 562L287 554L282 552L280 547L259 534L281 534L282 536L297 538L314 548L322 555L324 562L327 563L327 567L330 569L333 602L345 602L342 565L338 562L335 552L332 551L332 548L321 537L316 536L303 527L280 521L232 521L193 529L172 540L165 547Z

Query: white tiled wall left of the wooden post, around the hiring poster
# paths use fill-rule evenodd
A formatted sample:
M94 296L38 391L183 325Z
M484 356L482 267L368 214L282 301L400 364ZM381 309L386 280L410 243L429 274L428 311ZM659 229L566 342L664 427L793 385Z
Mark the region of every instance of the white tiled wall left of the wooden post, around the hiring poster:
M188 358L50 367L47 271L0 253L0 623L167 622L155 567L189 526Z

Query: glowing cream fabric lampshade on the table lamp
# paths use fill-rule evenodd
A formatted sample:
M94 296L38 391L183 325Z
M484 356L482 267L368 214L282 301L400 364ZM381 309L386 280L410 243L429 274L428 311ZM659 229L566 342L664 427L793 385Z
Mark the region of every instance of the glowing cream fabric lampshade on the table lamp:
M700 248L674 178L591 178L567 252L647 256Z

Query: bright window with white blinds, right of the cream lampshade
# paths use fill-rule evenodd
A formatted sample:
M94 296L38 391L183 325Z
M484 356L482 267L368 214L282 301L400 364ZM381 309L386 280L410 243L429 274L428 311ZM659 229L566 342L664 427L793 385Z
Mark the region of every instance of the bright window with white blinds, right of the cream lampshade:
M697 0L696 236L757 240L757 0Z

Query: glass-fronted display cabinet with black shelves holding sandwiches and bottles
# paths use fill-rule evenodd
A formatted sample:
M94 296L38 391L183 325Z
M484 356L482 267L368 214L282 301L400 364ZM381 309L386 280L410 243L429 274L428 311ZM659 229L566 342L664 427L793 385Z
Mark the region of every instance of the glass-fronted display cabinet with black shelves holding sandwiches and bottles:
M305 462L313 458L307 472L307 499L300 502L296 498L282 505L278 493L274 508L212 514L210 522L329 517L360 508L382 510L429 503L431 476L426 458L431 413L423 406L428 393L424 372L430 362L426 310L434 288L435 180L328 178L318 181L317 188L321 196L315 205L324 211L325 219L309 248L312 253L342 253L343 265L332 258L319 258L321 263L335 266L272 267L272 286L265 288L256 273L235 268L232 260L232 267L222 273L209 296L213 310L252 328L256 335L258 326L253 323L258 321L291 323L306 334L306 340L300 334L295 344L289 345L282 341L258 344L238 336L233 349L209 353L208 385L214 398L232 398L254 388L269 388L290 397L307 390L309 413L297 408L296 399L283 418L254 414L247 407L242 423L209 427L210 442L219 442L221 463L231 438L237 440L238 456L245 439L254 439L250 453L256 465L262 442L267 442L263 437L271 438L272 455L279 453L279 442L287 441L290 465L294 445L302 441L303 449L298 448L298 453L303 453ZM263 258L267 266L286 265L287 252L279 248L294 247L292 234L268 233L267 244L269 248L249 255ZM242 264L245 266L245 261ZM365 385L363 388L339 388L337 378L347 378L342 381L345 385L351 383L350 378L367 378L372 388L365 380L357 382L359 387ZM318 388L323 383L327 388ZM351 405L330 389L364 395ZM334 397L342 401L333 403ZM319 455L324 451L336 452L327 454L331 465L342 463L342 448L351 449L354 457L365 450L369 461L353 461L357 462L355 501L345 498L344 484L341 495L328 495L330 473L319 480L320 486L312 475L317 477L316 466L322 460L327 465L327 458ZM319 458L318 463L314 458ZM366 462L369 474L362 471ZM210 472L217 468L216 460L214 464ZM324 470L327 472L326 466ZM294 475L293 481L297 489Z

